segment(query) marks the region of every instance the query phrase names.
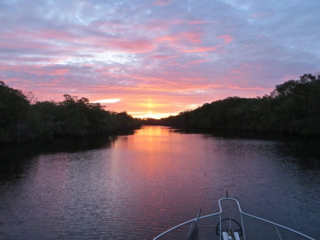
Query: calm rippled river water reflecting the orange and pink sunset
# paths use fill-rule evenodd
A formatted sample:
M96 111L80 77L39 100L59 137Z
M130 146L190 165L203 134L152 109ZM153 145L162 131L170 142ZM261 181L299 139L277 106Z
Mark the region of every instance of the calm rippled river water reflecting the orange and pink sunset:
M151 239L199 208L202 215L218 211L225 183L245 212L318 238L319 152L314 141L161 126L0 148L0 239ZM224 204L223 217L236 214L233 206ZM201 239L212 239L217 220L200 222ZM244 225L248 239L274 236L248 218ZM163 239L185 239L187 231Z

